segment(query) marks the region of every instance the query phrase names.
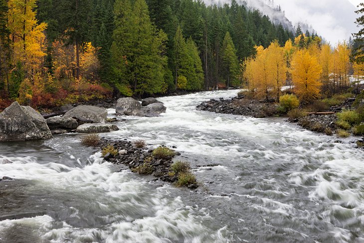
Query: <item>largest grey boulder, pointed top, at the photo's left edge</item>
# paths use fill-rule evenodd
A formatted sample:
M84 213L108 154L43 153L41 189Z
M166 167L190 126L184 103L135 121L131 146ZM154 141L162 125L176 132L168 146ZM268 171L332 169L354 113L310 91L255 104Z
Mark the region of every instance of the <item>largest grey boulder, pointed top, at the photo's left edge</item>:
M45 119L29 106L12 103L0 113L0 141L52 138Z

